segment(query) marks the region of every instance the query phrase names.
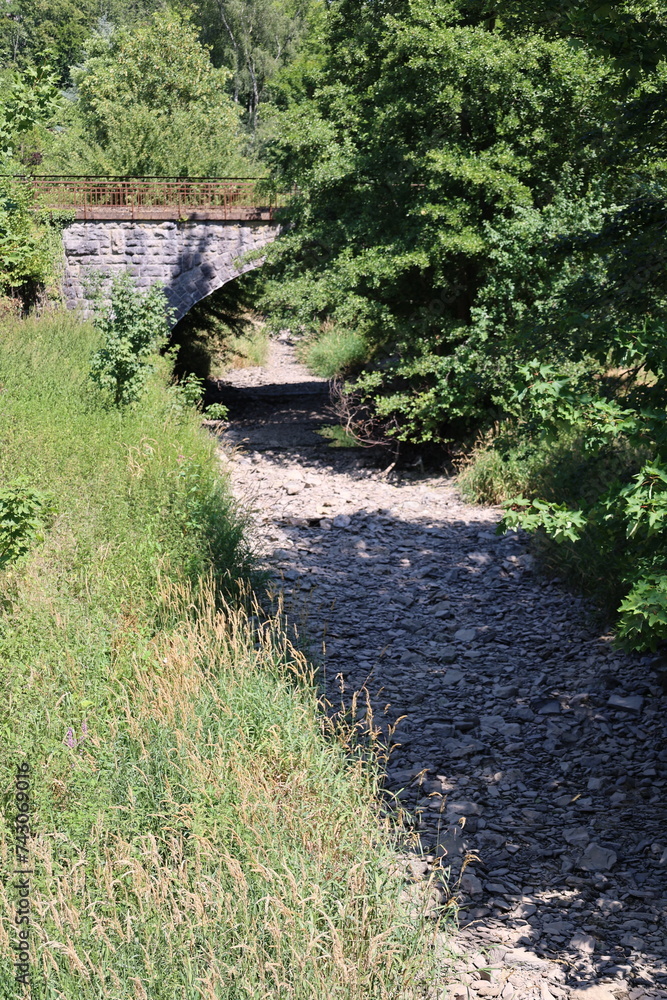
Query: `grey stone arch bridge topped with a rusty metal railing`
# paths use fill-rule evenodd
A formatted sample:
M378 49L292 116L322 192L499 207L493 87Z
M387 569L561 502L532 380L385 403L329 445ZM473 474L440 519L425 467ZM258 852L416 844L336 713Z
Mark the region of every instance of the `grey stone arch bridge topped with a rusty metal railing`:
M90 312L90 279L102 288L121 271L138 287L160 281L178 321L262 260L245 255L279 232L287 197L235 178L33 177L36 202L74 211L63 230L63 292L69 308Z

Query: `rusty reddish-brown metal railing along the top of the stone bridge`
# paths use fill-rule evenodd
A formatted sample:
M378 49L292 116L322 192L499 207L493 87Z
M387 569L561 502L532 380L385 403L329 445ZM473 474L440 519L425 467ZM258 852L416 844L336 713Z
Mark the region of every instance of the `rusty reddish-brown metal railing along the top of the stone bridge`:
M75 209L79 218L266 218L289 201L254 177L94 177L56 174L15 178L31 185L35 202Z

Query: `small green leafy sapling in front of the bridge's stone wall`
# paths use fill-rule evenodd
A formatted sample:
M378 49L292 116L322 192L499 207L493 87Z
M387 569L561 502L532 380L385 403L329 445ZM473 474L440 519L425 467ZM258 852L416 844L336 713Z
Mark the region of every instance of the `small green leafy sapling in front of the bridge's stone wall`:
M90 377L118 409L135 403L145 390L155 356L169 338L170 315L157 283L142 294L128 272L112 281L109 305L95 321L104 340L93 356ZM192 386L183 390L189 403L187 389Z

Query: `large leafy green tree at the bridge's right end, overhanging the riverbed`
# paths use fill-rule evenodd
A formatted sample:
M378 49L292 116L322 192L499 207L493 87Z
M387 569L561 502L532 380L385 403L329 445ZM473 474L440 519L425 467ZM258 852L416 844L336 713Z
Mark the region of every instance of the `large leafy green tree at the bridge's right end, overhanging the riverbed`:
M412 440L488 414L473 329L487 227L549 204L566 177L585 188L598 150L582 137L615 72L560 38L465 23L465 7L336 4L314 96L277 116L266 154L302 192L270 251L276 322L361 332L363 387Z

